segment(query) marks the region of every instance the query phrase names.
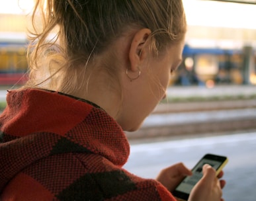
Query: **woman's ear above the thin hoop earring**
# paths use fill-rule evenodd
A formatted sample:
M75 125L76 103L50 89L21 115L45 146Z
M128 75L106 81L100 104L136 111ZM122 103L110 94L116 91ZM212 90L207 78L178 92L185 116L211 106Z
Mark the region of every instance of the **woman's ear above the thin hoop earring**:
M129 60L130 60L130 70L138 71L140 63L148 56L148 38L151 34L151 30L148 28L142 28L134 34L132 38L130 51L129 51Z

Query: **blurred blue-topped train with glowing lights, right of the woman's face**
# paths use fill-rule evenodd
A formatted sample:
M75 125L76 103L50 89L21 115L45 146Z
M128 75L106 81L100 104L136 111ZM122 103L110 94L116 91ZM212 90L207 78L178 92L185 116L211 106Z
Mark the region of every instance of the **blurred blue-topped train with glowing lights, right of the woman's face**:
M242 48L197 48L185 45L183 62L171 80L173 85L243 85L245 54Z

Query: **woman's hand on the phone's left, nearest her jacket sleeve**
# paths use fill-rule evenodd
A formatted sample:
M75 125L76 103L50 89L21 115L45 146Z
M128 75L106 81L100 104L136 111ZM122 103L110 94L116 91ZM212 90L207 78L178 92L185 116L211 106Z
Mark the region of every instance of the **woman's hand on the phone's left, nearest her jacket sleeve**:
M183 165L177 163L171 167L163 169L157 176L157 181L161 182L170 192L181 182L185 176L192 175L192 172Z

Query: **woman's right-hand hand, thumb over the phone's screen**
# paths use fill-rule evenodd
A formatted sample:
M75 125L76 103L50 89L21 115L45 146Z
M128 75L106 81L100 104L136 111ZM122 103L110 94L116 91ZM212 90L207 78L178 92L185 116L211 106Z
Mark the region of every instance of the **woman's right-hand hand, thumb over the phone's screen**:
M216 177L216 171L210 165L204 165L202 179L192 188L189 201L224 201L222 199L222 188L226 182L219 180L223 176L221 172Z

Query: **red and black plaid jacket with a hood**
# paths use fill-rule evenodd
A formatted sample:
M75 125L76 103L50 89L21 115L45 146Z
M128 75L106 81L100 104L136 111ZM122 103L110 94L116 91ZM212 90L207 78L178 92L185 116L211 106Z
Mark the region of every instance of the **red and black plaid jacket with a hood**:
M0 116L0 200L175 200L122 169L129 152L120 126L93 103L10 91Z

